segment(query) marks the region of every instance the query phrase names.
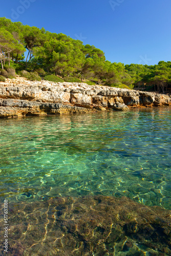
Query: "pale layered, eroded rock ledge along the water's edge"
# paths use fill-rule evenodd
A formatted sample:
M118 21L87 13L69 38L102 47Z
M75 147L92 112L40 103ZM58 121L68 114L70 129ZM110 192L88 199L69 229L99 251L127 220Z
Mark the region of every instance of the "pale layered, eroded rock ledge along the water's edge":
M22 77L0 82L1 118L162 105L171 105L168 95L86 83L28 81Z

